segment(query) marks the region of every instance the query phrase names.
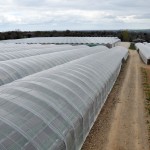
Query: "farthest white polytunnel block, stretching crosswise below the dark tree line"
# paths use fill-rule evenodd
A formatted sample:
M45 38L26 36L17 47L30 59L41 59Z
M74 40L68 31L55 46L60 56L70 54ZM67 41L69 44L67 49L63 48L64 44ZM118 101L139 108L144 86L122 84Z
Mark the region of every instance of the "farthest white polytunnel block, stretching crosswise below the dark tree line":
M110 44L116 46L117 37L39 37L17 40L4 40L2 43L52 43L52 44Z

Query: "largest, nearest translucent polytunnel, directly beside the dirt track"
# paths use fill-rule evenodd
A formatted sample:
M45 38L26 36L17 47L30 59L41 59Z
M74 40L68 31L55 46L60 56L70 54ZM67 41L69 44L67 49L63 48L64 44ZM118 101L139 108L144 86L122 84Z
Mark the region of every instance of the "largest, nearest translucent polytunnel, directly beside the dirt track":
M88 55L2 86L0 149L80 149L127 53Z

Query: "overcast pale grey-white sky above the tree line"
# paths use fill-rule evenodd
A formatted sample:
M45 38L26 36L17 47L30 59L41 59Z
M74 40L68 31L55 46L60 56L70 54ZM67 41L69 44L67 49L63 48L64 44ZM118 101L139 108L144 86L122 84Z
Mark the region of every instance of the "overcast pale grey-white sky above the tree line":
M0 0L0 31L150 28L150 0Z

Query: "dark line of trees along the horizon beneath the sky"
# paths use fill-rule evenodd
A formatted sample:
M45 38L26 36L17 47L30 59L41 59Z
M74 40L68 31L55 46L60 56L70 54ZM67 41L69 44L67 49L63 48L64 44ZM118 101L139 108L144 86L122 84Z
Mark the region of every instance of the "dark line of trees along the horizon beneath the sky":
M149 30L148 30L149 31ZM0 32L0 40L8 39L21 39L21 38L31 38L31 37L118 37L121 41L133 42L135 39L143 39L146 42L150 42L150 32L145 30L128 31L128 30L118 30L118 31L8 31Z

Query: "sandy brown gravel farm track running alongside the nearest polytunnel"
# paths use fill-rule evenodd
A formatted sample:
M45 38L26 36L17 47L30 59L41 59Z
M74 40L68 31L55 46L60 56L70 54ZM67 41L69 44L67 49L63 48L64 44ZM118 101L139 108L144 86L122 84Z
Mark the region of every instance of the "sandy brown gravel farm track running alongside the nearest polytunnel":
M129 47L129 43L121 43ZM129 50L128 61L82 150L150 150L144 92L141 82L143 64L137 51Z

